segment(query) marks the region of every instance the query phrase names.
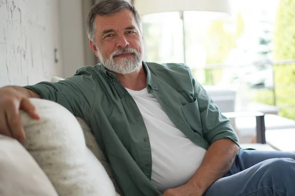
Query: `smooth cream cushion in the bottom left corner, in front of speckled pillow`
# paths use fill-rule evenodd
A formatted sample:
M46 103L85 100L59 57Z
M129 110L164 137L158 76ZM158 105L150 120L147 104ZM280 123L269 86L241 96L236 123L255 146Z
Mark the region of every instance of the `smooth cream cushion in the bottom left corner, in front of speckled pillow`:
M0 135L0 196L58 196L29 152L15 139Z

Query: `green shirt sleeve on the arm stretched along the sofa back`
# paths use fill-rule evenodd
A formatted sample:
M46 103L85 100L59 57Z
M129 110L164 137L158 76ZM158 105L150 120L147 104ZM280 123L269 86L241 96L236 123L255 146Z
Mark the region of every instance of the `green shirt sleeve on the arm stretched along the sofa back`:
M96 94L94 69L86 66L59 82L40 82L25 88L38 93L41 98L59 103L76 117L89 121Z

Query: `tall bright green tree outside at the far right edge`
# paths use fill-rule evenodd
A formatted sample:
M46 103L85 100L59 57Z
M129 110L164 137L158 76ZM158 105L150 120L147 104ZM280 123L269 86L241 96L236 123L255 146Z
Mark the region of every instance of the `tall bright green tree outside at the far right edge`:
M274 32L275 60L295 59L295 0L280 0ZM280 115L295 120L295 64L274 67Z

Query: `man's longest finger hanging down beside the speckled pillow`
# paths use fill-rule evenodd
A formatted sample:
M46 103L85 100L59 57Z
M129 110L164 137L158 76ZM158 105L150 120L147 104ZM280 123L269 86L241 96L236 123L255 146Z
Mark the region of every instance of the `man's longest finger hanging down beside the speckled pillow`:
M17 139L21 143L24 143L26 136L21 123L19 102L17 100L13 101L9 110L6 110L6 120L12 137Z

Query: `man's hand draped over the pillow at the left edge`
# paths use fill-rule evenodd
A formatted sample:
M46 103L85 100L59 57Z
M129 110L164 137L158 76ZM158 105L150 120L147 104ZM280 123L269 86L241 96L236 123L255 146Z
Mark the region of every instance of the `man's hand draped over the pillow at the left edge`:
M23 87L7 86L0 88L0 134L25 142L25 131L21 124L20 110L33 119L39 119L29 98L40 96Z

